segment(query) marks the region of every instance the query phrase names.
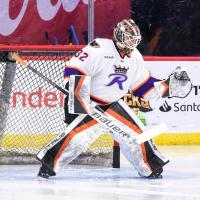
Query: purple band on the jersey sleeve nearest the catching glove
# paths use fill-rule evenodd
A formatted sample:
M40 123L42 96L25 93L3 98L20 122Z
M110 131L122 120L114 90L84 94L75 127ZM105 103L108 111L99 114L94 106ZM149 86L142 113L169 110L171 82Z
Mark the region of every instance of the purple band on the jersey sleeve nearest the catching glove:
M159 81L154 77L150 77L142 86L140 86L133 93L135 96L142 97L148 90L150 90L154 86L154 82Z

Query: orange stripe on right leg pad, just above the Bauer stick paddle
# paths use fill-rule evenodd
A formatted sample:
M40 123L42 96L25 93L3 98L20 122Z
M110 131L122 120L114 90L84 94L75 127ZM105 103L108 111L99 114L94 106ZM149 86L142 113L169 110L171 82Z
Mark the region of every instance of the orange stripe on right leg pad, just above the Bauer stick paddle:
M142 130L139 127L137 127L136 125L132 124L130 121L128 121L127 119L125 119L124 117L119 115L118 113L114 112L113 110L108 109L108 110L106 110L106 113L109 113L110 115L112 115L113 117L118 119L120 122L123 122L125 125L127 125L129 128L134 130L136 133L140 134L142 132Z

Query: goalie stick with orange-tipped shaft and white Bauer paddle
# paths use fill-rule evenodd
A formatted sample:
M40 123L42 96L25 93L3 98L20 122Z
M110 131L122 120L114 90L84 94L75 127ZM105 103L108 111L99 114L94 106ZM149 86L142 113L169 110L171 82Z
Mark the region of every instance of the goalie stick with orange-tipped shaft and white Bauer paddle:
M13 60L18 61L21 65L28 68L35 74L37 74L39 77L43 78L46 82L48 82L50 85L55 87L57 90L59 90L60 92L62 92L65 95L68 95L67 90L63 89L62 87L57 85L55 82L53 82L52 80L50 80L49 78L44 76L42 73L37 71L35 68L33 68L31 65L29 65L27 63L27 61L20 58L16 53L13 53L11 57ZM162 123L157 126L154 126L151 129L148 129L148 130L144 130L142 128L144 131L141 134L138 134L138 135L131 134L131 132L133 132L132 129L130 129L128 126L126 126L127 129L124 131L124 128L120 125L120 123L117 120L113 120L107 114L102 113L101 108L95 102L91 103L91 111L88 113L88 115L91 116L94 120L96 120L100 124L102 124L102 126L105 127L106 129L108 129L112 134L116 134L117 136L122 138L125 141L125 144L127 144L127 142L130 144L131 143L141 144L145 141L148 141L149 139L156 137L157 135L160 135L161 133L165 132L167 129L166 125ZM102 119L104 119L104 120L102 120ZM109 122L109 125L106 122ZM110 123L112 123L113 126L110 126ZM116 130L118 130L118 131L116 131ZM64 137L64 136L65 135L63 133L62 137Z

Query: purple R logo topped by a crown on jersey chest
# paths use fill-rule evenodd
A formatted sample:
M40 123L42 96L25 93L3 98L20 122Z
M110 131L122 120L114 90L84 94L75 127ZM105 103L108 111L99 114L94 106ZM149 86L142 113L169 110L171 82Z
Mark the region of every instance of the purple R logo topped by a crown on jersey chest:
M119 89L123 90L123 82L125 82L128 77L126 76L126 73L129 68L126 67L121 67L120 65L114 65L115 67L115 73L110 74L108 78L112 78L112 80L106 85L106 86L111 86L113 84L118 84Z

